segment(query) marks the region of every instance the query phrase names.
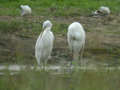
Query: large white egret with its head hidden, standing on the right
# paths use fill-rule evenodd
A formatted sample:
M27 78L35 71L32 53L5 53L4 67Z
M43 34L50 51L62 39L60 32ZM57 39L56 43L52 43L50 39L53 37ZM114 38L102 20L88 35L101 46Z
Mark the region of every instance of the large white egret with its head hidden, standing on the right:
M73 54L73 60L77 63L79 60L79 52L84 49L85 45L85 31L79 22L73 22L68 27L67 40L70 50Z

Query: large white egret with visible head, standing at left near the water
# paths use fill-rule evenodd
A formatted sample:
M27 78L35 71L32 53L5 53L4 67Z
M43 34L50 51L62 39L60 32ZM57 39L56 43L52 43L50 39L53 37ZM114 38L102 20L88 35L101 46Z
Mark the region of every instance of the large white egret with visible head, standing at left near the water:
M35 57L38 65L47 63L49 56L51 56L54 35L51 31L52 23L47 20L43 23L44 31L40 34L35 45Z

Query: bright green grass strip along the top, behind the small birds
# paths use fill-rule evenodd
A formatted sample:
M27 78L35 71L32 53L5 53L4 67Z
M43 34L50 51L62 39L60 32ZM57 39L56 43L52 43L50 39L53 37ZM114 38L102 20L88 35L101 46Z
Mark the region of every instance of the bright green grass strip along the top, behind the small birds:
M103 5L110 7L112 13L120 11L119 0L1 0L0 15L19 16L21 4L30 5L37 16L85 15Z

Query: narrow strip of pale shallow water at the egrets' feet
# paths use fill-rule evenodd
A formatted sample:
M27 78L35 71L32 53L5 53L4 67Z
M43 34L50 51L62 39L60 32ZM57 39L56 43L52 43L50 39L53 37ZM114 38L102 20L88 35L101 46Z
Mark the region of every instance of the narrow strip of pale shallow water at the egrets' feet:
M77 69L77 70L92 70L92 71L99 71L99 70L120 70L120 66L119 67L95 67L95 66L71 66L71 67L63 67L63 66L55 66L55 65L51 65L51 66L46 66L46 67L39 67L39 66L28 66L28 65L0 65L0 75L2 75L2 71L3 70L8 70L11 71L12 73L14 72L19 72L21 70L26 70L26 69L30 69L30 70L36 70L36 71L40 71L42 69L45 69L46 71L55 71L55 72L62 72L64 70L68 70L68 69ZM11 73L11 74L12 74Z

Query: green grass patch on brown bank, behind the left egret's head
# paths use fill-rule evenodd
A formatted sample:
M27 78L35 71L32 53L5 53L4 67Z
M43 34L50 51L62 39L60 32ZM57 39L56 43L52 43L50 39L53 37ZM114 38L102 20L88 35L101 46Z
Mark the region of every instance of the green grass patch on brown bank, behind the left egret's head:
M33 19L34 20L34 19ZM0 32L2 33L14 33L23 37L31 37L30 35L39 35L42 31L41 19L38 22L29 21L25 18L2 20L0 21ZM68 24L53 22L54 33L66 33Z

